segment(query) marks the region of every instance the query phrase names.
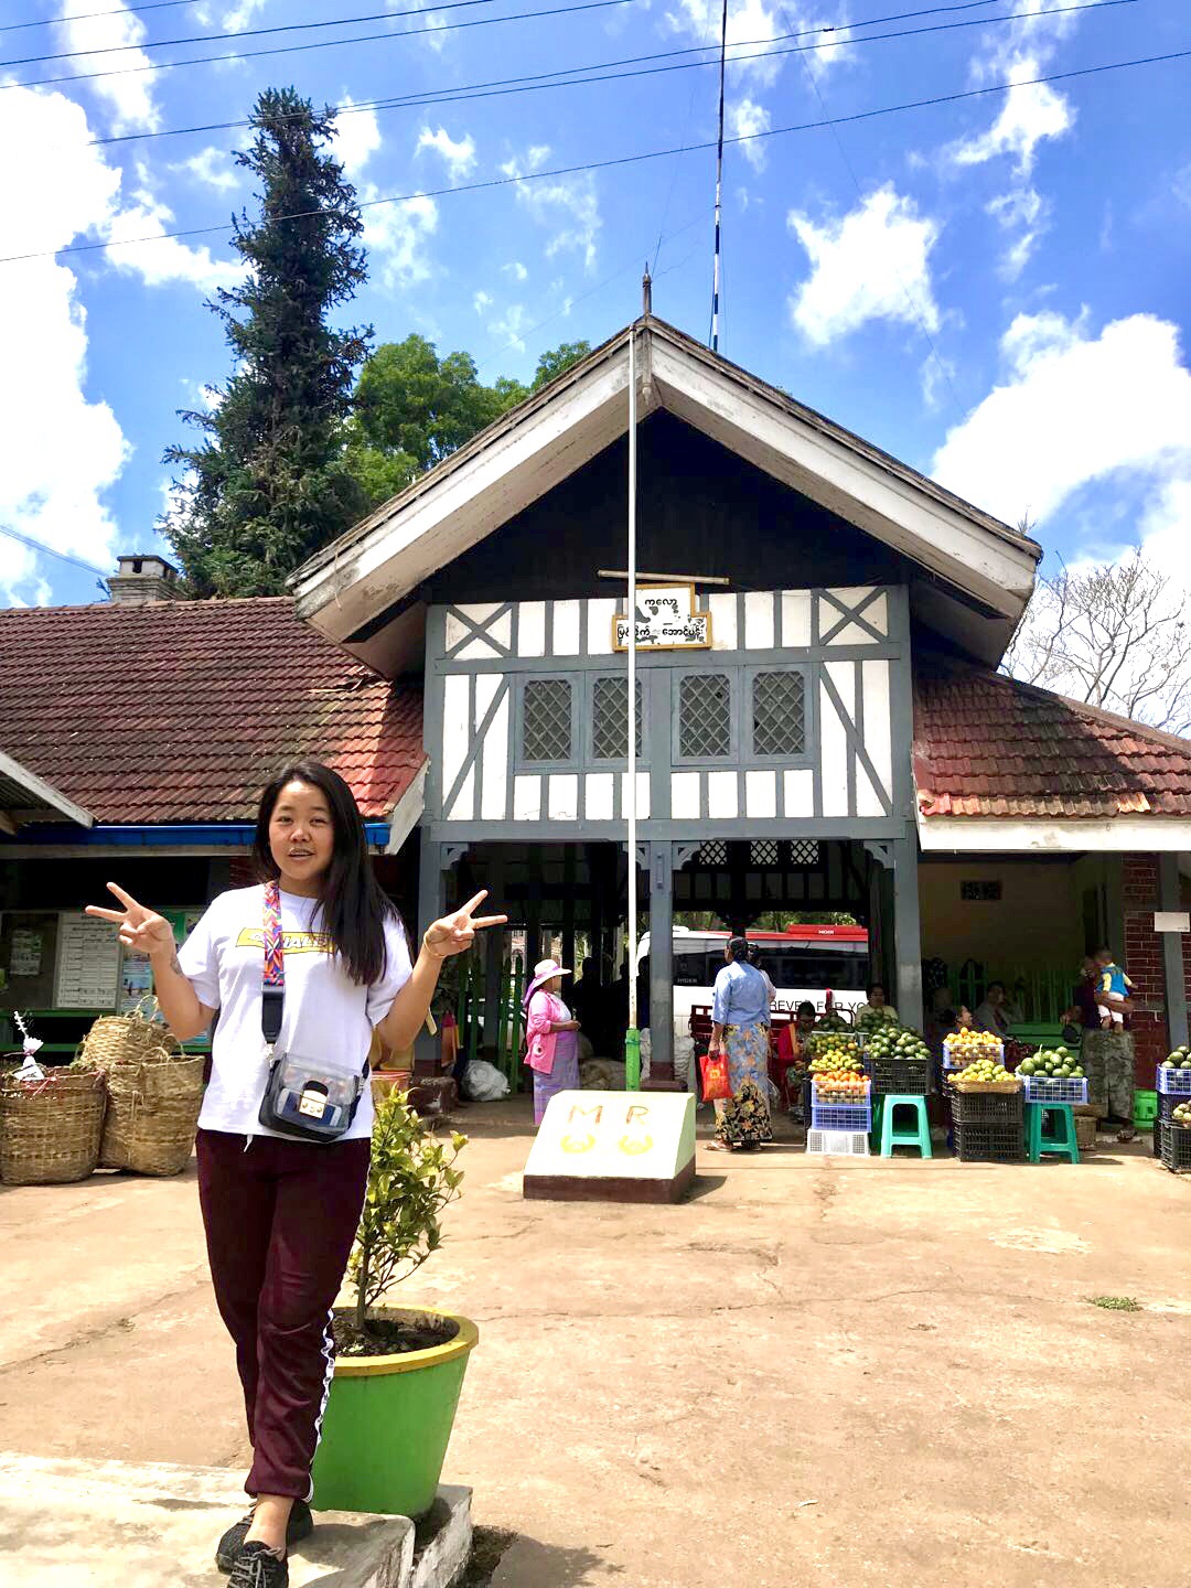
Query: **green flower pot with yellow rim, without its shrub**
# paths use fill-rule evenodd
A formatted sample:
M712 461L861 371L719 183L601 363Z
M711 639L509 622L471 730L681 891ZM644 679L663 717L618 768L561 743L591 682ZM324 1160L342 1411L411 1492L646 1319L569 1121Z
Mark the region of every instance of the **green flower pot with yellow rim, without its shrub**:
M426 1309L384 1307L376 1316L446 1320L456 1334L426 1351L337 1359L314 1456L313 1505L424 1517L480 1331L470 1318Z

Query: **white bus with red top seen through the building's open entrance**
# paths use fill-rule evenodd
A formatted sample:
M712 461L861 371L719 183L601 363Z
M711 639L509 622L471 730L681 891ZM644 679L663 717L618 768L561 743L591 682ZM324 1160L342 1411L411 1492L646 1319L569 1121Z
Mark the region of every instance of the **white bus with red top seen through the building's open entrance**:
M713 983L724 966L730 932L673 929L673 1029L684 1037L691 1010L710 1004ZM864 926L789 926L784 932L750 932L761 950L761 966L777 988L773 1008L810 1002L821 1013L827 992L837 1010L864 1004L869 985L869 929ZM649 958L649 934L642 937L637 962Z

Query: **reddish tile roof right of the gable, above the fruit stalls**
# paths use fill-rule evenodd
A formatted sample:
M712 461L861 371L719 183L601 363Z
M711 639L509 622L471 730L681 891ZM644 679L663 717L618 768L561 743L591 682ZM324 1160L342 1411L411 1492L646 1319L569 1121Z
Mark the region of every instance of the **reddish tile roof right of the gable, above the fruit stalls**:
M1000 673L915 657L924 816L1191 816L1191 740Z

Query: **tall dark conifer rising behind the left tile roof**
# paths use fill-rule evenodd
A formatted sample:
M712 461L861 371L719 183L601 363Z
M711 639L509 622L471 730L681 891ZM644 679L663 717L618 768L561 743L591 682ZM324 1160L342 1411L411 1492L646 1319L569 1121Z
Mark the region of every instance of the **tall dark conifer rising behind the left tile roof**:
M260 184L260 216L233 221L248 275L210 303L235 373L210 413L181 413L202 443L165 453L183 472L162 532L192 596L278 594L368 505L345 459L343 421L372 327L329 322L367 276L356 191L326 149L333 113L267 89L251 127L237 162Z

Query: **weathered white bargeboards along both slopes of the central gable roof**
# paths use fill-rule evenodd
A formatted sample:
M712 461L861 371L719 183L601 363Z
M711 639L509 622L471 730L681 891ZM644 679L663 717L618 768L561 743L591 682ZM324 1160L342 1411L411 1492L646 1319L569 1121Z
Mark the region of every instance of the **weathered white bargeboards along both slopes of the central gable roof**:
M642 418L669 410L908 557L939 627L999 661L1034 584L1034 542L672 326L632 329ZM365 645L432 573L624 435L627 348L624 330L311 557L291 580L299 616Z

